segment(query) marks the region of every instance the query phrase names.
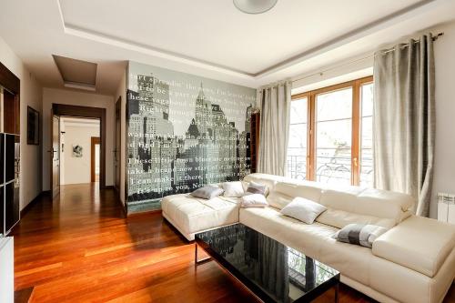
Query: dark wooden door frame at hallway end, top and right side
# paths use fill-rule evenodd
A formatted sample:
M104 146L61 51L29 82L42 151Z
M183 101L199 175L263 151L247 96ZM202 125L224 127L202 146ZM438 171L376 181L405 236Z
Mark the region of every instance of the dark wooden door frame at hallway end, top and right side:
M96 118L100 123L99 187L106 188L106 108L52 104L55 115ZM51 171L52 185L52 171Z

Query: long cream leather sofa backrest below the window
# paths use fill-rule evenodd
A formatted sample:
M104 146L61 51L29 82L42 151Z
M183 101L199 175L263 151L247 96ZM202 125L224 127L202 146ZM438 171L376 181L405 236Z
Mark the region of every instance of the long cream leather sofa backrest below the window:
M393 227L410 217L414 200L409 195L361 187L332 187L266 174L251 174L246 181L268 185L268 205L282 209L294 197L304 197L328 207L316 221L342 228L351 223Z

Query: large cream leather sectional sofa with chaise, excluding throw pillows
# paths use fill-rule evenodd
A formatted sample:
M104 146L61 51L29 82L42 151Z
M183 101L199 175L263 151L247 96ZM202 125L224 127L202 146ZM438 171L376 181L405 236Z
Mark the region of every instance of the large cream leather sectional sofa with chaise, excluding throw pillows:
M455 226L412 215L410 196L359 187L252 174L268 186L268 207L239 207L239 198L165 197L163 216L188 240L197 232L242 223L336 268L341 281L379 302L441 302L455 278ZM308 225L279 210L306 197L328 210ZM372 248L333 239L349 223L387 227Z

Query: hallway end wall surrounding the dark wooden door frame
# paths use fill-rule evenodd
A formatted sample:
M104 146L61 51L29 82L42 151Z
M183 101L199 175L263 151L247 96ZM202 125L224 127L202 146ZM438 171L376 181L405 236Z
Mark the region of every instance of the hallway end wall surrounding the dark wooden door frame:
M106 186L114 185L114 98L90 93L76 92L56 88L43 89L43 150L49 150L50 139L50 113L52 104L66 104L73 106L92 106L106 108ZM49 167L49 155L43 153L43 167ZM43 169L43 190L50 187L49 169Z

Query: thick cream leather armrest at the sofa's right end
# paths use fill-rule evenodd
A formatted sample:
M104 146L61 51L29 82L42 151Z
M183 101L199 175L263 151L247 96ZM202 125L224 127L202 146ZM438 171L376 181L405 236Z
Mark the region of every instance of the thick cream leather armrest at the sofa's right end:
M455 247L455 226L411 216L378 237L375 256L433 277Z

